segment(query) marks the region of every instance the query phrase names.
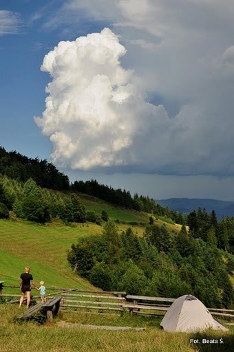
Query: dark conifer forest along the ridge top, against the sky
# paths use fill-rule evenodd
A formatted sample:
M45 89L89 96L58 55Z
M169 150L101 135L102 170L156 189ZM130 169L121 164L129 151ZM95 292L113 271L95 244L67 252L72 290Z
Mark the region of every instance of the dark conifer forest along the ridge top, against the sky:
M70 191L71 193L81 192L103 199L104 201L114 204L114 206L167 216L177 223L182 223L183 221L180 212L173 212L169 208L163 208L149 197L138 195L137 193L132 197L130 192L125 189L114 189L111 186L98 184L95 179L90 181L74 181L74 183L70 184L67 175L58 171L56 167L52 163L47 162L46 159L39 160L37 157L33 159L21 155L21 153L17 153L17 151L8 152L3 147L0 147L0 174L6 175L10 179L16 179L21 182L22 185L25 184L28 179L32 179L35 181L36 185L41 188ZM8 201L0 201L1 203L5 203L9 210L12 210L15 197L15 195L12 195L12 197L8 197ZM50 203L50 201L48 202ZM50 204L47 204L47 208L48 205L50 206ZM61 217L63 220L67 219L67 221L72 221L70 210L58 210L56 212L55 208L54 206L53 210L50 209L51 217L58 215L58 217ZM57 204L57 208L59 208L59 204ZM62 212L63 214L61 214ZM45 221L47 218L48 216L45 217ZM89 214L89 219L92 218L94 219L93 214Z

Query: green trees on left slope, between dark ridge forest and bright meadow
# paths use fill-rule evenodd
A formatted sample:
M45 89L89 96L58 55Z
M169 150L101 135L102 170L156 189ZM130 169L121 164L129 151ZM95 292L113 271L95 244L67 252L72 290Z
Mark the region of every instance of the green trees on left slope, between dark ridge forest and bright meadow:
M4 184L4 187L3 187ZM61 219L64 223L98 223L108 220L103 210L100 214L87 211L83 201L74 192L54 192L41 188L34 179L24 184L7 177L0 177L0 218L8 218L9 210L21 218L37 223L45 223L51 219Z

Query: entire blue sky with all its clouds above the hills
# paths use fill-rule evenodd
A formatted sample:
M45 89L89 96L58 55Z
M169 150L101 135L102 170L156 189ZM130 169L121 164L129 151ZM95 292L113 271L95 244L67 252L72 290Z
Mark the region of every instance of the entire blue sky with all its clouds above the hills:
M0 144L155 199L234 200L233 0L1 0Z

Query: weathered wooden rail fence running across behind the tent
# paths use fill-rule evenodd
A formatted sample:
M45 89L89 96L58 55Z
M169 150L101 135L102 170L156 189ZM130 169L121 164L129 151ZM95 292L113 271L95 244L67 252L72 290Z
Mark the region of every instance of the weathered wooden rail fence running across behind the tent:
M19 286L6 286L1 283L0 295L6 298L17 298L8 301L8 303L19 302L20 294L3 294L2 289L11 288L19 289ZM131 315L145 314L151 316L162 316L175 301L175 298L167 297L149 297L127 295L126 292L117 291L100 291L87 289L71 289L47 287L47 297L61 296L61 311L85 311L88 314L121 314L128 311ZM32 298L39 298L32 296ZM234 309L208 308L213 316L234 318Z

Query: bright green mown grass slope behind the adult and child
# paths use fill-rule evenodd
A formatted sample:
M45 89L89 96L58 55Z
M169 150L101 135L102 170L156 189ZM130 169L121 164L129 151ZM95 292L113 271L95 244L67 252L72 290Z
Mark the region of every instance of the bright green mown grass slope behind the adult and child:
M66 251L78 237L100 227L70 228L67 226L37 225L24 221L0 221L0 278L6 285L18 285L19 275L25 265L32 267L32 274L38 284L45 281L54 287L92 287L73 274L66 259Z

